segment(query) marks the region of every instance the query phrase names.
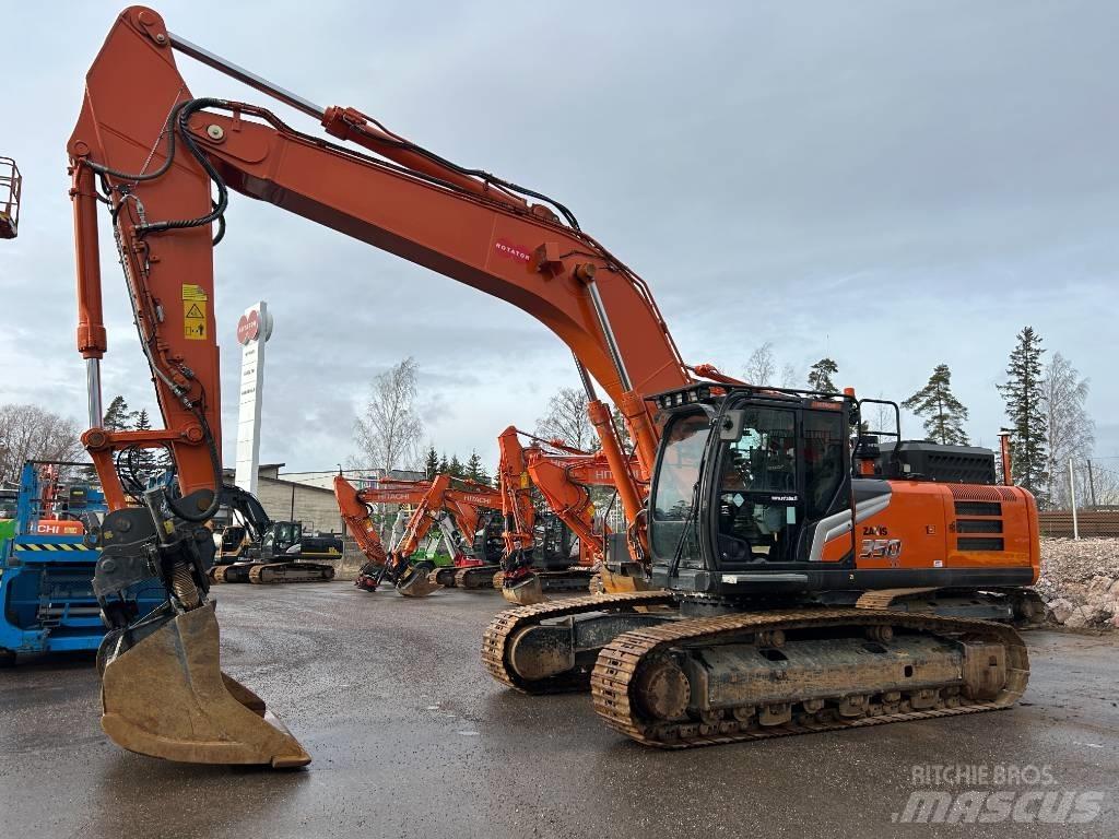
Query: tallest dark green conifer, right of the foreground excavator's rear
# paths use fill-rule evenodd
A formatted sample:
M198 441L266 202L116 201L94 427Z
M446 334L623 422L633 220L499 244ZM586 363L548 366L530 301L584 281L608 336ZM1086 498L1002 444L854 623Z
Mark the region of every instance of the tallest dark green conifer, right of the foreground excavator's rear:
M1045 461L1047 422L1042 377L1042 337L1033 327L1018 333L1018 343L1010 352L1005 385L997 385L1006 400L1010 421L1010 471L1015 482L1034 493L1038 505L1047 501L1043 491L1049 486Z

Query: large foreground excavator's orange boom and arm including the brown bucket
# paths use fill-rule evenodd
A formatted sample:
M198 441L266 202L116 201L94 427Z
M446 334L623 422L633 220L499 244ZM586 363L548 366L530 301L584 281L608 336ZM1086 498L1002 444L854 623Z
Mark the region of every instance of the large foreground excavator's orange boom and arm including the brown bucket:
M257 105L195 97L176 50L312 116L351 145L298 132ZM171 34L143 7L120 15L90 68L67 151L77 345L90 397L83 442L116 525L103 529L95 578L113 626L103 726L116 743L191 762L310 760L278 720L261 719L258 698L219 673L207 597L213 540L203 525L218 508L222 486L214 246L226 234L232 192L424 265L544 323L575 357L627 518L639 519L658 442L646 399L688 384L693 368L681 361L643 281L562 205L451 163L356 110L323 109L283 91ZM103 207L163 428L101 426ZM636 471L592 377L621 409ZM145 447L170 450L176 482L129 507L115 461ZM141 576L157 576L168 591L163 610L142 628L114 611L120 593Z

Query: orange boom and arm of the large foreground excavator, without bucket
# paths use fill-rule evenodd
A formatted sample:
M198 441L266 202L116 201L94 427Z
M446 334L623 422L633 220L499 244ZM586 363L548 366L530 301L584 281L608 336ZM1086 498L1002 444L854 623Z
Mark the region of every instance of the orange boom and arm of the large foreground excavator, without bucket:
M169 445L185 494L213 487L220 445L213 237L223 235L231 190L532 314L621 407L648 472L657 433L643 397L687 384L690 376L645 283L573 226L570 211L560 207L568 219L564 224L546 205L515 197L518 190L536 194L457 167L352 109L320 109L279 92L329 133L385 159L297 132L255 105L194 98L179 75L176 46L244 77L244 70L170 34L154 11L132 7L90 69L68 145L78 349L87 359L91 404L100 408L98 360L106 350L96 237L97 205L106 201L167 422L163 431L114 433L97 428L100 415L91 409L93 431L85 442L109 481L111 503L123 505L111 455L130 445ZM255 81L278 95L274 86ZM585 375L584 384L591 387ZM624 474L609 412L599 407L592 413L600 434L610 437L605 454ZM636 516L640 492L628 490L627 509Z

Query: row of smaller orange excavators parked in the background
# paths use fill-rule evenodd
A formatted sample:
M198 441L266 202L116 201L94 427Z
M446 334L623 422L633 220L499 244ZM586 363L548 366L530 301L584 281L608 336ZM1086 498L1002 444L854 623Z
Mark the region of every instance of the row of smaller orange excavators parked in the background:
M530 441L528 446L520 437ZM357 490L341 474L335 497L347 529L368 559L355 585L368 592L388 581L407 597L440 587L501 591L518 604L539 603L544 592L586 591L604 556L608 531L595 522L590 488L613 487L605 460L562 441L506 428L498 439L497 488L448 474L430 481L380 480ZM374 511L407 505L386 550ZM396 525L402 525L397 518ZM412 562L432 527L452 557L449 567ZM469 537L469 539L468 539Z

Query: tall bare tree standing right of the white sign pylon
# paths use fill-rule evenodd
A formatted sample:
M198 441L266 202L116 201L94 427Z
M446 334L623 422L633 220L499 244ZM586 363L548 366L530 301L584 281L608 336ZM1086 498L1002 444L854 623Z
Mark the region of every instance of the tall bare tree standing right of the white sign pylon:
M415 409L414 358L405 358L376 376L369 400L354 423L354 439L365 462L391 473L394 469L417 469L423 461L423 421Z

